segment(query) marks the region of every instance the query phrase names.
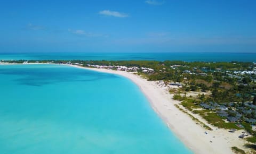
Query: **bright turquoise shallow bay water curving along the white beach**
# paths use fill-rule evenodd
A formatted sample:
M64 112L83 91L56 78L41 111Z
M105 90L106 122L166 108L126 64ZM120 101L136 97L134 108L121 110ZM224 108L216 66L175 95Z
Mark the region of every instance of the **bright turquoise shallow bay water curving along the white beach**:
M0 65L0 153L191 153L137 85L63 65Z

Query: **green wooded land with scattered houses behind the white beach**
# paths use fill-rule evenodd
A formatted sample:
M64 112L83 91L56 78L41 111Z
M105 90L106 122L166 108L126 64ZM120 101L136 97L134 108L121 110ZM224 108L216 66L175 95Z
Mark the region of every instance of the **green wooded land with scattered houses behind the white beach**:
M230 147L234 152L255 152L256 63L2 60L0 64L65 64L137 74L168 91L177 100L174 106L204 127L206 135L222 129L244 143Z

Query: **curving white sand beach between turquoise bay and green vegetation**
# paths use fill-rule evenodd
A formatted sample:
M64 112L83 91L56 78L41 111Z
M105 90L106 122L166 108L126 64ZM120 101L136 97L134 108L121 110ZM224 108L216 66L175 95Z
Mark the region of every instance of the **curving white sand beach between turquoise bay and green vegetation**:
M178 104L179 101L173 100L170 93L157 86L154 81L147 81L138 75L125 71L94 69L77 65L67 66L118 74L130 79L138 85L144 95L148 98L151 107L163 119L170 130L194 153L234 153L231 151L231 147L236 146L241 148L244 144L243 140L237 138L242 131L229 133L228 130L217 129L214 127L213 131L208 131L201 125L196 124L191 117L174 106L174 104ZM205 131L207 134L205 134Z

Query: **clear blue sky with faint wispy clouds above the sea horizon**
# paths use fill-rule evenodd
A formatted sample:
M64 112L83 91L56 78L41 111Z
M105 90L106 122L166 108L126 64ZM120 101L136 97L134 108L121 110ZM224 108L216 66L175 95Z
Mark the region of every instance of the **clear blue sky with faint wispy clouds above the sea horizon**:
M0 52L256 52L255 0L1 1Z

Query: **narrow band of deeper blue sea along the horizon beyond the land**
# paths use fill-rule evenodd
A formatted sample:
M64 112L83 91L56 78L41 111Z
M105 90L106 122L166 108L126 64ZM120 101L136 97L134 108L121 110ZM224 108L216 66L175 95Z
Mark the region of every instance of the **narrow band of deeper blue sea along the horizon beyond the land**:
M256 53L27 53L0 54L0 59L81 59L81 60L178 60L204 62L256 62Z

